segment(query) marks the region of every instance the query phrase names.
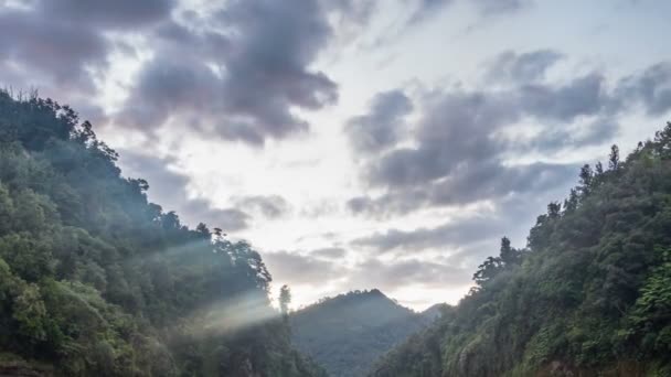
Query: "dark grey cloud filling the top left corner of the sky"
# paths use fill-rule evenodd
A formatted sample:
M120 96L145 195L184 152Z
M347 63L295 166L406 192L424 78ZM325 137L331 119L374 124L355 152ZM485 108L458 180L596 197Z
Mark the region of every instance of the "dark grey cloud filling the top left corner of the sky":
M108 67L108 55L117 49L107 33L123 28L143 31L170 18L174 6L171 0L39 0L3 7L0 79L61 96L92 94L93 75Z

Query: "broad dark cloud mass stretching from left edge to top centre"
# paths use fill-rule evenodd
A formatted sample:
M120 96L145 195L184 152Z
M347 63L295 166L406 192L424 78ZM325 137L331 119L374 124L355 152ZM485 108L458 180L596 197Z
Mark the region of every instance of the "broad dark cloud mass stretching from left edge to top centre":
M189 6L39 0L6 7L0 80L89 106L118 56L142 55L149 58L111 117L116 127L157 132L173 120L209 137L262 146L307 132L310 125L298 112L338 101L337 83L312 65L340 26L365 24L374 9L373 1L351 0Z

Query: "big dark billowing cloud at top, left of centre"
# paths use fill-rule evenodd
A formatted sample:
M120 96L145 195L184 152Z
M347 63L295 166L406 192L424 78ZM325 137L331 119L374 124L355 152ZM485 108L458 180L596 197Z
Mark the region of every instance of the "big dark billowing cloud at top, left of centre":
M211 25L204 30L172 22L158 34L120 122L153 129L177 117L205 134L255 146L307 132L295 109L338 101L338 85L311 68L336 35L330 19L364 22L365 9L344 0L235 0L199 19Z

